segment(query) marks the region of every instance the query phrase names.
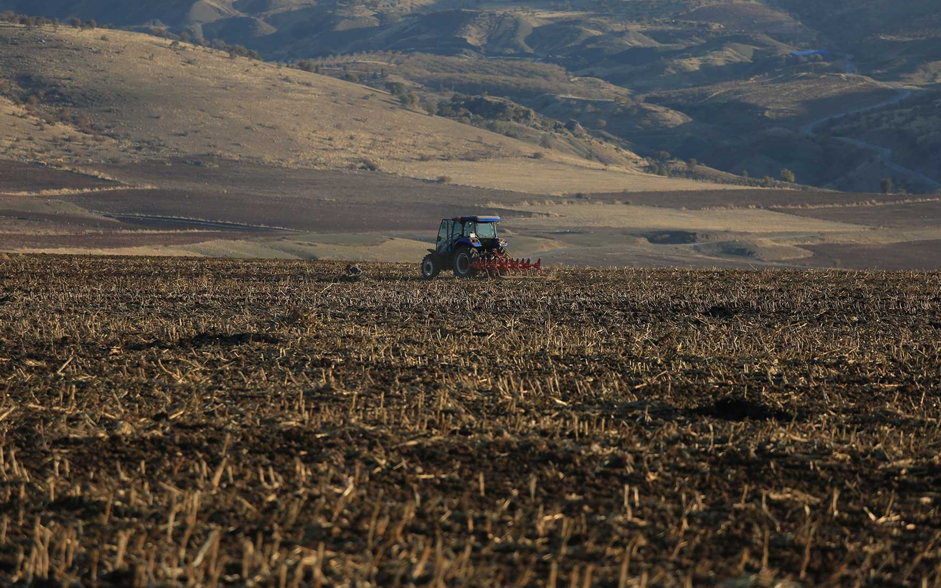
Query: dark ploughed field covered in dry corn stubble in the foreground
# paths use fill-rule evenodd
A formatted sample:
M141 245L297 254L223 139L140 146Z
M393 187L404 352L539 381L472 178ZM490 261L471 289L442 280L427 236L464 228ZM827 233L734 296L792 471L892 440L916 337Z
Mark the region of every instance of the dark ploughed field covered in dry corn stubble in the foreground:
M941 276L363 268L0 262L0 582L941 581Z

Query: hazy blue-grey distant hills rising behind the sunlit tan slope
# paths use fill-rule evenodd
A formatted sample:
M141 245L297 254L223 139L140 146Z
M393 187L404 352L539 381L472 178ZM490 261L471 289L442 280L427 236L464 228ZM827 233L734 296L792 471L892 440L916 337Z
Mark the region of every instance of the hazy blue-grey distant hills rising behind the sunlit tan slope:
M508 99L560 125L574 121L585 135L553 141L500 119L475 119L475 126L606 164L621 162L601 153L607 149L593 156L591 139L647 158L669 151L732 174L777 177L785 167L799 167L805 183L873 189L853 171L867 164L871 150L845 142L802 147L805 141L797 137L789 149L802 155L782 157L767 135L780 128L800 134L805 120L762 118L752 104L765 100L762 94L773 87L775 112L821 119L831 114L831 97L859 103L860 83L871 90L869 103L885 100L885 84L936 83L941 24L931 4L52 0L37 8L0 0L0 9L39 9L63 21L95 19L216 47L236 43L268 60L378 89L405 83L432 112L454 92ZM802 50L826 53L791 55ZM726 100L728 88L742 100ZM707 103L677 100L682 92L705 95ZM748 125L742 125L742 113ZM912 185L923 189L917 186L930 183Z

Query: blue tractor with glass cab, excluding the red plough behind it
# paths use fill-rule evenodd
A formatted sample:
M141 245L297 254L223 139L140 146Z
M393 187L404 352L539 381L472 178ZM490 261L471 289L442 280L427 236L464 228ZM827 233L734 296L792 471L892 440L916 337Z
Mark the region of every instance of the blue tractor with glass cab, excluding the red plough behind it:
M438 241L422 260L422 276L431 279L451 268L458 278L508 260L506 241L497 236L500 216L455 216L441 220Z

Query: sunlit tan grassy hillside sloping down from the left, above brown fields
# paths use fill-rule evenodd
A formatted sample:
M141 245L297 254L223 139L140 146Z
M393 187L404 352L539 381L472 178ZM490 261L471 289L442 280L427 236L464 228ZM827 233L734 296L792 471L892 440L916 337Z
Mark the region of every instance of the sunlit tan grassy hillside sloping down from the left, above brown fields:
M534 174L536 193L695 185L640 174L630 151L605 166L428 116L374 88L130 32L4 26L0 79L2 147L17 159L87 166L199 154L501 187L542 151L553 173Z

